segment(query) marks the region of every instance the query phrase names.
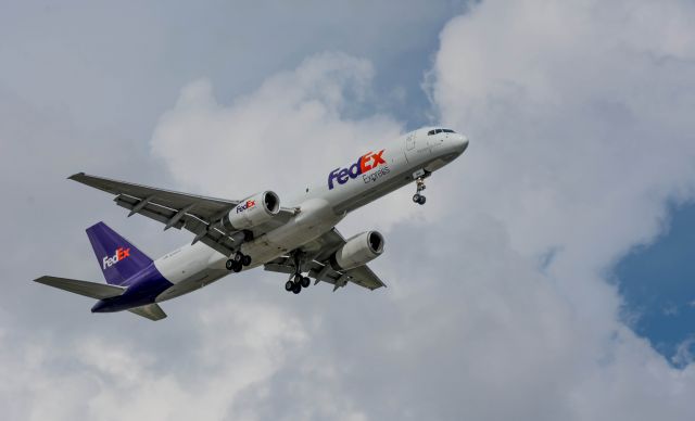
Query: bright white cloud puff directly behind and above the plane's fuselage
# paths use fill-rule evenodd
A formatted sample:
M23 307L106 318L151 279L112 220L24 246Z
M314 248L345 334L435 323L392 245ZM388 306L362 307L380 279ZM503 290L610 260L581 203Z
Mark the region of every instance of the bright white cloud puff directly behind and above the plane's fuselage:
M374 100L372 77L370 62L327 52L269 77L229 105L214 98L208 81L194 81L161 118L152 152L188 190L243 199L269 189L287 203L337 166L401 133L402 125L388 115L351 117ZM404 203L404 193L389 197L371 226L355 220L351 229L413 217L415 209Z

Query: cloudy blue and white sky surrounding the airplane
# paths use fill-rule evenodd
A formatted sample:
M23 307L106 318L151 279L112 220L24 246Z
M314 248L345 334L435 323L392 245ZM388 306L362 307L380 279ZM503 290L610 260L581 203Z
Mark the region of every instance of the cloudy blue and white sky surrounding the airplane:
M0 0L3 419L690 420L695 3ZM65 178L289 197L422 125L470 145L355 212L375 292L229 276L92 315L84 229L190 241Z

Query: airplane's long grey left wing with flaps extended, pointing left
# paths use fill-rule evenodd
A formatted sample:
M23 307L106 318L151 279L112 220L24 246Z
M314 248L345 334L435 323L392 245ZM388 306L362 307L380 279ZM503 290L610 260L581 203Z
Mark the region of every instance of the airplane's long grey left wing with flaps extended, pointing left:
M68 179L114 194L116 204L130 210L128 216L147 216L164 224L165 230L172 227L186 228L195 234L193 242L201 241L225 256L231 255L238 246L231 237L236 231L226 230L219 221L241 201L180 193L85 173L75 174ZM282 207L269 222L255 227L253 234L262 235L286 224L292 215L294 209Z

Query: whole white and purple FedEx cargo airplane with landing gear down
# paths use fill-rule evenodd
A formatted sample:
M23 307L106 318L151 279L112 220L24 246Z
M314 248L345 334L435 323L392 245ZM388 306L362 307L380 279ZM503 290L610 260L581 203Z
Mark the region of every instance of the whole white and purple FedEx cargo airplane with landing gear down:
M386 284L367 264L383 253L384 239L365 231L350 239L336 225L350 212L415 182L413 202L426 203L425 180L466 151L468 138L425 127L383 149L328 171L288 206L273 191L244 200L206 197L75 174L68 179L115 195L128 216L142 215L193 233L186 244L152 260L105 224L87 229L106 283L43 276L36 282L98 299L92 312L128 310L151 320L166 317L159 303L227 276L263 266L289 275L288 292L326 282L333 292L349 282L375 290Z

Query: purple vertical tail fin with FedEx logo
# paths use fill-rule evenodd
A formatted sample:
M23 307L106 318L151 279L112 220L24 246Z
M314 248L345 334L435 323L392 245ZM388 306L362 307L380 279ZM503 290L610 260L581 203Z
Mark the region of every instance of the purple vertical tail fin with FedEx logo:
M104 222L87 228L87 237L109 284L122 285L152 263L151 258Z

